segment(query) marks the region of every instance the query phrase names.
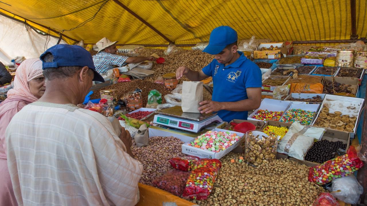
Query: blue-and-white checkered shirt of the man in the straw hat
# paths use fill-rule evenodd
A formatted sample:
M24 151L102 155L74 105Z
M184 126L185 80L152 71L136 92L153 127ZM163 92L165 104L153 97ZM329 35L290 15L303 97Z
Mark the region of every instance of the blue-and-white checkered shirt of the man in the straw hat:
M113 67L123 66L127 58L127 56L119 56L101 51L93 56L93 62L98 73L105 73L113 69Z

